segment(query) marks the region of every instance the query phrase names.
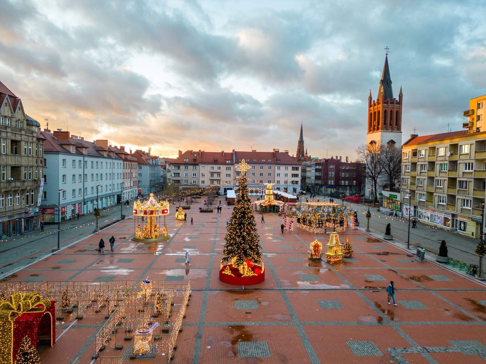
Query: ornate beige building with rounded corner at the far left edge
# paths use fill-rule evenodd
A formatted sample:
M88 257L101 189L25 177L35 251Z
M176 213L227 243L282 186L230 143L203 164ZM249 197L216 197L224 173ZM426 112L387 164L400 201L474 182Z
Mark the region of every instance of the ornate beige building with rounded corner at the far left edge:
M0 237L38 229L43 141L40 124L0 82Z

